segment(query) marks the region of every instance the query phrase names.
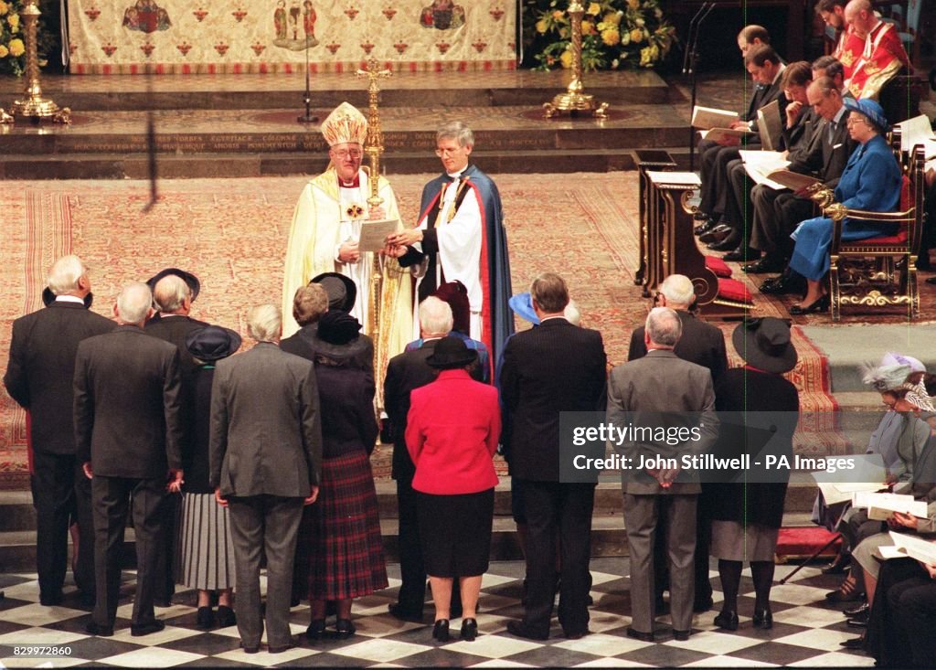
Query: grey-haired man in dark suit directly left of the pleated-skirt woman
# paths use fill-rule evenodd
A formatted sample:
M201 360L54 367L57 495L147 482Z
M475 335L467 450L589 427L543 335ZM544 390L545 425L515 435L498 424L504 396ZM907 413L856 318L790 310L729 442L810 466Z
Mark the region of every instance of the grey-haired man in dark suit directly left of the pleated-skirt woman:
M183 426L179 350L143 332L152 305L149 286L124 286L118 328L82 341L75 358L75 442L94 503L97 602L87 628L95 635L113 634L131 495L137 597L130 632L165 627L154 616L154 590L163 498L182 485Z

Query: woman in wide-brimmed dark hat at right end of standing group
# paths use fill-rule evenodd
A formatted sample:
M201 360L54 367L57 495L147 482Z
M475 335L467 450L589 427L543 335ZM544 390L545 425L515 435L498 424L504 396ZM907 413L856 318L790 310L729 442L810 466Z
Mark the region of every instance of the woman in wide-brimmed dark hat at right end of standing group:
M783 372L797 365L797 350L790 341L790 327L781 319L748 319L735 328L732 343L747 365L724 372L715 384L715 409L720 414L716 448L747 452L763 440L746 424L767 419L770 453L793 452L797 428L799 393L784 379ZM769 413L759 415L758 413ZM753 454L752 454L753 456ZM711 555L718 559L724 603L715 625L738 629L738 589L743 561L750 561L754 581L754 628L771 628L770 585L773 582L774 552L783 517L783 499L789 473L779 471L776 479L740 481L706 487L711 495ZM759 477L753 477L753 480Z

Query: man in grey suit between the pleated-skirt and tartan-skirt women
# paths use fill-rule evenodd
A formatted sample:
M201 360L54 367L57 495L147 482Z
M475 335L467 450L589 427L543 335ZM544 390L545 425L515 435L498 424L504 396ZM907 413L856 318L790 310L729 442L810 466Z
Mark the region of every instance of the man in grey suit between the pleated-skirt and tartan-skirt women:
M267 557L267 640L271 653L292 647L289 600L302 505L318 496L322 426L312 361L279 347L276 305L247 313L256 346L218 362L210 438L214 496L229 505L241 647L256 653L260 556Z

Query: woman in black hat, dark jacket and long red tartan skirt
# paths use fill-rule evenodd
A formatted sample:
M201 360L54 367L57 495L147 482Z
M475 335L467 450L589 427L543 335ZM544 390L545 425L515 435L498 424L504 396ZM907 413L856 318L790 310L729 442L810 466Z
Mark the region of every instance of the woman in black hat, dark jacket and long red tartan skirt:
M329 310L318 321L315 377L322 415L322 475L309 508L310 622L306 637L325 633L326 605L335 601L335 635L355 633L351 602L388 586L377 494L369 460L377 440L373 375L359 361L367 342L348 313Z

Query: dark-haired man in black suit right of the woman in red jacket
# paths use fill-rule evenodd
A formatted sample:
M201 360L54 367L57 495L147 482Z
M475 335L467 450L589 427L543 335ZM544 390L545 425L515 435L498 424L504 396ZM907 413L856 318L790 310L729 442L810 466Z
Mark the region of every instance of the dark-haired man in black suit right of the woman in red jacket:
M530 293L540 325L507 341L500 377L501 441L510 450L511 476L522 481L527 517L526 612L507 630L548 637L558 534L559 622L574 639L588 634L594 483L561 483L559 415L603 409L607 357L601 333L565 319L569 292L562 277L541 274Z

